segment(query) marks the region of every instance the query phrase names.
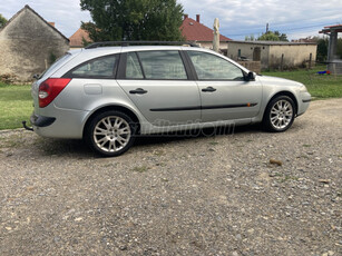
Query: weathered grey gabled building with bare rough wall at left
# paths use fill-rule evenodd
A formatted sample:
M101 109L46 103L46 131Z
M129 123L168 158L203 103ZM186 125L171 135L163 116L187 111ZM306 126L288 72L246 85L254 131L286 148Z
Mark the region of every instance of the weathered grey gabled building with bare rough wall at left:
M69 39L29 6L0 30L0 76L30 81L69 49Z

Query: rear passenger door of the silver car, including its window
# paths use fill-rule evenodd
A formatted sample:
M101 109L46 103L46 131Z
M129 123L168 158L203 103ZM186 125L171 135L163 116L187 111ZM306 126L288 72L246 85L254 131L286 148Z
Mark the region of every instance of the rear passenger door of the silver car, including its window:
M197 83L188 80L178 50L121 53L118 83L144 117L156 126L201 119Z

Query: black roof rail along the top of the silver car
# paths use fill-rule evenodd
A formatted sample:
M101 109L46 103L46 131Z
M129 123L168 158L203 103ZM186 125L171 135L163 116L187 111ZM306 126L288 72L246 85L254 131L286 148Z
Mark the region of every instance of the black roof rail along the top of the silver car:
M158 45L158 46L190 46L190 47L199 47L196 42L190 41L104 41L104 42L94 42L85 49L95 49L98 47L109 47L109 46L146 46L146 45Z

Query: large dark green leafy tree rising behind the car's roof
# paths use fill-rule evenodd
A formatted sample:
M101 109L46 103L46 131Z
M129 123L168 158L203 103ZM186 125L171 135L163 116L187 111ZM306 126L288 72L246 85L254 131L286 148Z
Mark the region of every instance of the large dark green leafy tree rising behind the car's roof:
M176 0L80 0L94 22L82 22L92 41L183 40L183 6Z

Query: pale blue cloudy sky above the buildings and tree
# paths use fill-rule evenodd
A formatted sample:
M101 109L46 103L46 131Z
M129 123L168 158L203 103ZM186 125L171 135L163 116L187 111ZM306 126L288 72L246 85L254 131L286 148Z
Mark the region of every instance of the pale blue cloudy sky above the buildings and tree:
M279 30L289 39L319 36L324 26L342 23L342 1L330 0L177 0L184 13L213 28L219 19L219 32L235 40L245 36L261 36L266 30ZM79 0L1 0L0 13L10 19L29 4L45 20L56 22L56 28L70 37L81 21L90 21L90 13L81 11Z

